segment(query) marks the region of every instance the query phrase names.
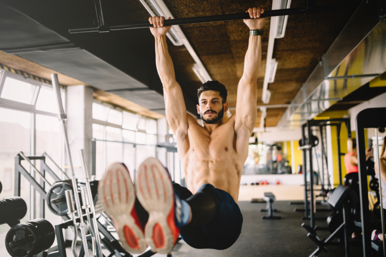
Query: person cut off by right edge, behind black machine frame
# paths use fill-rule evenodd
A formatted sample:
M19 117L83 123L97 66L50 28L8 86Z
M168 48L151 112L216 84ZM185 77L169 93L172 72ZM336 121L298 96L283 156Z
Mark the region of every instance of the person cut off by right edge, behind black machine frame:
M383 216L386 215L386 152L384 151L386 139L383 139L382 151L380 153L379 160L374 159L375 178L377 178L382 186L382 204L383 204ZM380 172L378 171L378 162L380 166ZM380 176L379 176L380 175ZM379 179L379 177L381 179ZM372 230L371 240L383 240L382 231Z

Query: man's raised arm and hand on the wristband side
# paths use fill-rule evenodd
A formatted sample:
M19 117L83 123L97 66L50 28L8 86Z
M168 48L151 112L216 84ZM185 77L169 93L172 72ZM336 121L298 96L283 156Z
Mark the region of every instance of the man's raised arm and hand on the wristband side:
M261 30L264 18L260 14L263 9L250 8L247 11L251 18L244 20L250 30ZM245 54L244 73L237 88L235 131L238 139L243 142L249 139L256 123L257 76L261 62L261 36L249 36L249 45ZM237 146L236 146L237 147Z

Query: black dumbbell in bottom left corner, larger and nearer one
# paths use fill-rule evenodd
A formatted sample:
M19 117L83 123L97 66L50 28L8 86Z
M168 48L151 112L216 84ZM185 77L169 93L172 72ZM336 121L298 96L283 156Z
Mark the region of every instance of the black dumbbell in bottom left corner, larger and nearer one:
M6 235L6 248L13 257L32 257L51 247L55 229L46 219L18 224Z

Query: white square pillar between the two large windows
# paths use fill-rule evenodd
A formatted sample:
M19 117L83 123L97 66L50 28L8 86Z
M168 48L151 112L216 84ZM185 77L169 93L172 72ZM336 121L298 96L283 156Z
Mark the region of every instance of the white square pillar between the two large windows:
M76 178L83 178L79 150L85 149L91 176L92 88L84 85L67 87L67 133ZM66 157L66 165L69 165ZM71 174L71 171L67 169Z

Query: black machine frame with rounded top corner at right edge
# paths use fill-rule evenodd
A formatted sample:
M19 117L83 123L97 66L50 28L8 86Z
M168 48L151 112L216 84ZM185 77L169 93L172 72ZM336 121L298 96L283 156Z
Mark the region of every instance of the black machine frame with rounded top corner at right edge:
M379 246L371 241L372 222L370 222L370 211L368 209L368 186L367 186L367 171L366 171L366 146L364 129L378 127L386 127L386 107L383 108L368 108L360 111L356 116L356 147L358 157L358 173L359 173L359 195L360 195L360 215L362 220L362 244L363 256L371 255L371 248L380 249ZM377 151L378 152L378 151ZM379 155L379 153L378 153ZM374 157L375 158L375 157ZM378 159L378 158L377 158ZM379 183L379 190L381 190ZM381 191L380 191L381 195ZM380 200L380 202L382 202ZM384 234L384 217L381 210L382 233ZM383 255L385 255L386 241L383 244Z

